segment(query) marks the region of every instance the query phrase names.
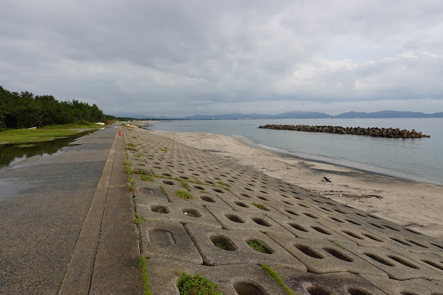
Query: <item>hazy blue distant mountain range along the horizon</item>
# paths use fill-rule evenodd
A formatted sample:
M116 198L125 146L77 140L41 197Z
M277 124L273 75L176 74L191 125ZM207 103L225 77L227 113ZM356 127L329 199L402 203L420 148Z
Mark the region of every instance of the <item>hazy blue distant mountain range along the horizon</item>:
M140 118L134 116L133 118ZM288 111L278 115L269 114L218 114L218 115L195 115L186 117L166 117L152 116L144 117L157 120L245 120L245 119L318 119L318 118L443 118L443 111L440 113L424 114L416 111L375 111L372 113L348 111L336 116L317 111Z

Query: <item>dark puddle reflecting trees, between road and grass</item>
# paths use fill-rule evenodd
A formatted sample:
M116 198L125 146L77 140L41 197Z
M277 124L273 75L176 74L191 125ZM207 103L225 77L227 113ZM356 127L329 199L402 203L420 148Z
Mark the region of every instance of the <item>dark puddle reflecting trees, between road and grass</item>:
M96 130L88 130L66 136L64 138L55 138L53 141L41 141L39 143L7 143L0 145L0 169L8 167L29 157L36 155L51 155L61 152L62 147L69 145L69 143L81 136L92 133ZM75 144L73 144L75 145ZM72 146L72 145L69 145Z

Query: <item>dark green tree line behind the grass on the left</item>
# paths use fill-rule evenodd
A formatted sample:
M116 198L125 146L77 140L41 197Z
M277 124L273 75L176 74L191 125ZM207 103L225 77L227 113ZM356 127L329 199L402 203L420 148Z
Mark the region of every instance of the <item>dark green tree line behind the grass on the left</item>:
M78 100L58 101L53 96L35 96L28 91L12 92L0 86L0 129L85 124L114 118L97 105Z

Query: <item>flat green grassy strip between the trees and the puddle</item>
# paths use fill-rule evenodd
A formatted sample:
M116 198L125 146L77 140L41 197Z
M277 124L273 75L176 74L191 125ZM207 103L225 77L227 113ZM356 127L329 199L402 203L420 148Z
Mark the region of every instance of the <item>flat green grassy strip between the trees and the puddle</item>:
M109 124L105 125L108 126ZM51 141L53 138L62 138L83 132L89 129L105 127L94 123L88 125L66 124L53 125L37 129L9 129L0 132L0 144L3 143L36 143L40 141Z

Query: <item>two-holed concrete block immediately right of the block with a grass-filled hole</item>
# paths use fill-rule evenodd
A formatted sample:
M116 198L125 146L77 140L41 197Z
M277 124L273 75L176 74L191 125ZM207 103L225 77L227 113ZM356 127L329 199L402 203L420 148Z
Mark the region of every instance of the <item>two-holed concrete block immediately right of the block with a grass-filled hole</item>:
M311 272L326 274L349 271L356 274L388 276L381 269L340 247L338 242L299 239L278 233L267 235L300 260Z

